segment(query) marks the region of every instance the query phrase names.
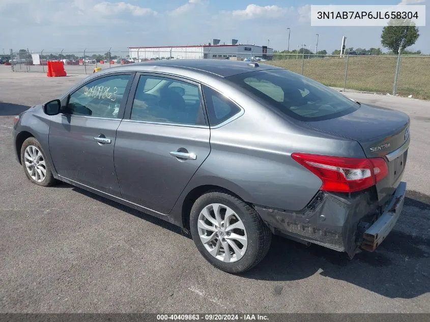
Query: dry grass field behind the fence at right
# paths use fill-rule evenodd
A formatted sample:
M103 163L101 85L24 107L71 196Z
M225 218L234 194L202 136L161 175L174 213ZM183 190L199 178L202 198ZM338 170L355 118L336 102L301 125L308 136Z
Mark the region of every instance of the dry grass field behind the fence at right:
M265 63L301 73L302 59L300 55L297 58ZM328 86L343 88L346 62L346 57L305 58L303 75ZM395 56L350 56L346 89L392 94L396 63ZM430 57L402 57L397 94L430 99Z

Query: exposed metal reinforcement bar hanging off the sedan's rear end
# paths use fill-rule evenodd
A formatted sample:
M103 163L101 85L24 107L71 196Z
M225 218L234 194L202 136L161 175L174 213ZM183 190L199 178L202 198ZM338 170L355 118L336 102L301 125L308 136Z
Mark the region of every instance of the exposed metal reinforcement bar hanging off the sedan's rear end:
M374 251L382 241L388 236L388 233L393 229L398 217L403 209L405 202L406 182L400 182L393 198L387 208L363 234L363 242L361 248L368 251Z

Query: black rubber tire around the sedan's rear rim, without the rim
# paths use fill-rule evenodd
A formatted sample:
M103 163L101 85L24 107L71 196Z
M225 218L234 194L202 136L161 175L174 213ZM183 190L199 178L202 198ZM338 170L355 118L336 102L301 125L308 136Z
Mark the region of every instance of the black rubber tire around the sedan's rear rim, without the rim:
M198 249L198 251L205 257L213 266L230 273L238 273L248 270L254 266L256 260L256 255L259 252L259 239L257 227L255 227L255 222L252 220L251 216L247 213L246 209L240 205L240 200L235 200L232 196L221 193L221 192L211 192L199 197L191 209L190 213L190 231L193 241ZM239 202L238 202L239 201ZM197 230L197 220L200 212L204 207L211 203L221 203L224 206L230 207L242 220L246 235L248 238L248 245L243 257L235 262L227 263L223 262L214 256L212 256L203 245Z

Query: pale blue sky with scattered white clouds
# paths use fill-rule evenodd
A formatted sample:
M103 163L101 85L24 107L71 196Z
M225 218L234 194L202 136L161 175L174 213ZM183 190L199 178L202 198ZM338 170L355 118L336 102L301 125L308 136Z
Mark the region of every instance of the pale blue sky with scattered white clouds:
M310 5L430 4L430 0L0 0L0 53L102 51L127 47L195 45L220 39L288 47L306 44L331 53L342 36L347 47L381 46L382 27L310 26ZM409 50L430 54L430 14ZM300 46L301 47L301 46Z

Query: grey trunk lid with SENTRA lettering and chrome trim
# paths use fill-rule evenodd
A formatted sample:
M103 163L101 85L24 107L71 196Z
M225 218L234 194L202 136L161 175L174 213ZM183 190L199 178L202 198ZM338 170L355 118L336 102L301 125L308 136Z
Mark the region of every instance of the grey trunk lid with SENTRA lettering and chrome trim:
M368 158L385 158L389 173L376 187L380 204L390 199L406 165L410 140L407 114L361 104L356 111L339 118L306 123L314 129L358 141Z

